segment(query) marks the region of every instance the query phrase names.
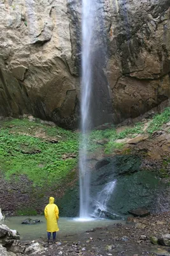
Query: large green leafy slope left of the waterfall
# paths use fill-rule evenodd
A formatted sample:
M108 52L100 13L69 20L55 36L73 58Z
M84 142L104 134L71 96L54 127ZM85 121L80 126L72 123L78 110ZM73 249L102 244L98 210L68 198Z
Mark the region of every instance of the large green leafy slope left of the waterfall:
M35 138L42 129L45 136L59 135L58 143ZM33 186L60 182L77 163L76 158L62 159L64 154L78 153L77 138L74 132L28 120L4 122L0 130L0 169L7 179L13 174L27 175Z

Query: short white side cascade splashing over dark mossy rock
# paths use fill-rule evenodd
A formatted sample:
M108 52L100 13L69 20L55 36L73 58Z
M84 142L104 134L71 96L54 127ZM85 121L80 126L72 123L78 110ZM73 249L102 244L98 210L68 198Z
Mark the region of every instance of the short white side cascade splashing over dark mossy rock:
M116 180L108 182L102 191L97 194L96 209L93 215L102 217L103 211L108 211L107 204L116 186Z

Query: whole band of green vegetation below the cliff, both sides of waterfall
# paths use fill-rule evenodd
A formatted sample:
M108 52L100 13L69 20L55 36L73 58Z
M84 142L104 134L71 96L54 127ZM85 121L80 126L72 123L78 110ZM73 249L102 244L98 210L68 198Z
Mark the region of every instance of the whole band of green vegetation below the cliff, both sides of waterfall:
M145 131L149 134L170 121L170 108L155 115ZM87 139L90 152L104 150L111 154L115 149L124 148L124 138L133 138L143 133L144 124L138 123L118 132L115 127L104 131L92 131ZM26 175L33 186L60 183L78 163L78 132L66 131L60 127L41 124L40 120L30 122L27 118L0 122L0 170L10 179L15 174Z

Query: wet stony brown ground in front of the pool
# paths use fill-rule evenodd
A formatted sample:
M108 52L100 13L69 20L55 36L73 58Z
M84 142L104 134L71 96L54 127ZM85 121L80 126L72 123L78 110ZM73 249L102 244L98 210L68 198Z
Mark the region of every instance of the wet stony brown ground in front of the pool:
M62 236L56 243L47 244L46 239L39 240L45 247L42 255L83 255L83 256L170 256L168 246L154 245L150 236L159 237L170 233L170 213L132 218L131 224L115 223L109 227L92 228L83 234Z

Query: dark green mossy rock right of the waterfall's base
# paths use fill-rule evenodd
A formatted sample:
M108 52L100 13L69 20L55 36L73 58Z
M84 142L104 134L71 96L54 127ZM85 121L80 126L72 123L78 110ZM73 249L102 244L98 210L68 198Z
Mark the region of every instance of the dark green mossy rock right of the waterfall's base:
M110 163L92 173L92 208L95 208L97 193L108 182L116 180L115 189L108 200L111 213L120 216L129 214L131 209L145 207L151 212L161 208L160 196L166 185L157 178L155 172L140 170L141 159L137 156L116 156Z

